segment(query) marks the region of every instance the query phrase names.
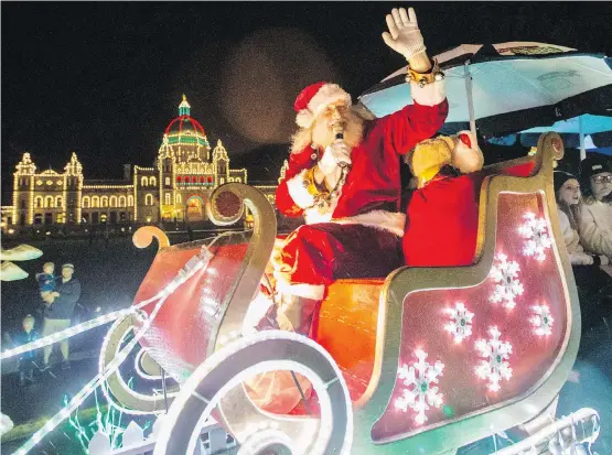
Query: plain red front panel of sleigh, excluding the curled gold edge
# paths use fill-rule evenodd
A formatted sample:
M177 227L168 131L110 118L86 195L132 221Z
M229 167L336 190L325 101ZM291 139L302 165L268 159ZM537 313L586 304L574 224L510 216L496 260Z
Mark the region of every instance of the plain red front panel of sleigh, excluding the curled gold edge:
M205 243L194 241L161 248L135 299L138 304L168 291L167 296L160 297L165 301L141 344L178 380L189 377L208 357L224 314L225 295L234 285L248 246L246 242L216 243L210 250L214 256L207 266L181 283L182 274L190 272L197 261L206 261ZM180 284L175 285L175 280ZM153 300L142 310L150 313L158 301ZM138 326L138 318L133 319Z

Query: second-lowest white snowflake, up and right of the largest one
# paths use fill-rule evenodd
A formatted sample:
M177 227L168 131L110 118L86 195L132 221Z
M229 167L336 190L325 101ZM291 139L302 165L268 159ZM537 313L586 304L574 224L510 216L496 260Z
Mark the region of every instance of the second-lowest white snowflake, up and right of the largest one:
M500 381L502 379L507 381L512 377L512 368L506 361L512 354L512 345L500 339L502 334L497 327L491 327L488 333L492 338L476 342L479 356L486 358L486 360L480 361L476 367L476 375L481 379L488 379L488 389L496 392L500 390Z

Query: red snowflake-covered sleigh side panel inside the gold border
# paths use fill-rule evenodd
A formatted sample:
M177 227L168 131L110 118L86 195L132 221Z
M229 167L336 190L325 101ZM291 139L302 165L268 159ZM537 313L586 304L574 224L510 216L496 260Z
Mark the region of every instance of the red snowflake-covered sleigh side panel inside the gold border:
M374 441L520 397L555 366L570 305L541 199L500 194L495 260L482 283L406 296L400 368Z

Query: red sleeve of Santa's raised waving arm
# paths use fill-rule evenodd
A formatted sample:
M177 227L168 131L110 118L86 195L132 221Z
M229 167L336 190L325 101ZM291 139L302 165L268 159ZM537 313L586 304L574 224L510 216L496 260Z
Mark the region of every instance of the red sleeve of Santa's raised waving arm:
M449 115L449 101L434 106L422 106L418 102L383 117L385 136L390 139L398 154L406 154L419 142L431 138L442 128Z

